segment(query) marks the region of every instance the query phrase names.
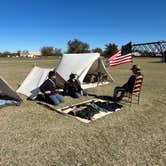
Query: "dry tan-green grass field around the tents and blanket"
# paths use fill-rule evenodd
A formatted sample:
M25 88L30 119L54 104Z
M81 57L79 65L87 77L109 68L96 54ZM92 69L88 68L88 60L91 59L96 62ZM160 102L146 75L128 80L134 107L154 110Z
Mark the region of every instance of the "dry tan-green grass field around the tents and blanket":
M14 89L34 65L52 68L58 59L0 58L0 75ZM159 58L135 58L145 76L140 105L122 101L123 109L90 124L58 114L20 95L19 107L0 110L0 165L165 166L166 64ZM111 96L130 76L129 65L109 72L115 82L90 93ZM78 103L92 97L72 99Z

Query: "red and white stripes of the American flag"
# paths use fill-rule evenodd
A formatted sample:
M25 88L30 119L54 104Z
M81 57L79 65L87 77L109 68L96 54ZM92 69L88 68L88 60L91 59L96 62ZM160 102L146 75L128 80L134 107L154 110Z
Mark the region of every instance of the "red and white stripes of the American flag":
M111 66L116 66L116 65L120 65L120 64L130 63L132 61L133 60L132 60L131 53L122 55L121 50L119 50L118 52L116 52L114 55L112 55L108 59L108 65L111 67Z

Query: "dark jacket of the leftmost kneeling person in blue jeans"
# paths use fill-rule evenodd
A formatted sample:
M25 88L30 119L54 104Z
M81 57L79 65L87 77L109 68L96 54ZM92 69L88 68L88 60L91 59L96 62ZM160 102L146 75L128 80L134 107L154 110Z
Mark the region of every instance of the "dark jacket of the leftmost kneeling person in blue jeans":
M51 91L51 94L47 94L52 95L54 93L56 93L56 84L53 80L51 79L47 79L46 81L44 81L44 83L39 87L39 89L41 90L41 92L45 93L45 91Z

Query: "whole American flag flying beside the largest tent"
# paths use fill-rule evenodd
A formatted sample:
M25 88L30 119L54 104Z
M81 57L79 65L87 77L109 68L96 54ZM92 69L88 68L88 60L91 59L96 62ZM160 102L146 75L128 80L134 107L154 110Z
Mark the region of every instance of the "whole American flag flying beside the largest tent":
M121 50L117 51L108 59L108 65L111 67L132 62L131 48L131 42L122 46Z

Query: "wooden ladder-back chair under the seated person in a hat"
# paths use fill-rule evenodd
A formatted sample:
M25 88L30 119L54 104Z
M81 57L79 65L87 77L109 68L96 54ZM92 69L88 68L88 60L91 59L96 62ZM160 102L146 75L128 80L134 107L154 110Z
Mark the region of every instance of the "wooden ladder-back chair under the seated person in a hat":
M133 90L131 93L128 94L128 100L130 102L130 106L132 105L134 96L137 97L138 104L140 103L140 94L141 94L143 79L144 79L143 75L138 75L135 78Z

